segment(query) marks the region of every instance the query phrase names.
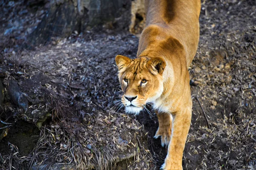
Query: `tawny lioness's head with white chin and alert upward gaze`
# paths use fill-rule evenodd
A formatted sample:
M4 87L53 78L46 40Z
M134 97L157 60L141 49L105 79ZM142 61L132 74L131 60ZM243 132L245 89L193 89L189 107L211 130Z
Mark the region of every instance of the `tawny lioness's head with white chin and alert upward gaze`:
M163 93L163 70L166 66L163 58L130 59L117 55L116 65L124 93L121 100L127 113L140 113L147 102L154 102Z

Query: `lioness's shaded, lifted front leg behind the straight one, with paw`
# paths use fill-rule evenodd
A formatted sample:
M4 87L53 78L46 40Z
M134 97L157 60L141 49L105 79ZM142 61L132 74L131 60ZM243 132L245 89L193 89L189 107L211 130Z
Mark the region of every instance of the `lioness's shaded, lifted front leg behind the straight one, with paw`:
M168 146L171 140L172 134L172 115L170 113L158 113L155 111L158 118L159 127L154 138L161 136L162 147Z

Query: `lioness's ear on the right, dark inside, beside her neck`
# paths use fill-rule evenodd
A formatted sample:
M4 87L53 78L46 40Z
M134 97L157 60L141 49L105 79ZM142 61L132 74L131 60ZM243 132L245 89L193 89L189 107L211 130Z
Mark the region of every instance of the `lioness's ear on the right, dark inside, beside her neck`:
M154 75L157 75L157 73L163 75L165 66L166 62L162 57L151 58L147 63L147 68Z

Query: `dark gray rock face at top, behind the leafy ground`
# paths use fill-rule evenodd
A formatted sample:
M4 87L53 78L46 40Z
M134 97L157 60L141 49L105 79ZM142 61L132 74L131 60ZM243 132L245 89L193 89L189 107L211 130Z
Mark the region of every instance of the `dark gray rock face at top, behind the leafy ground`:
M44 44L51 37L67 37L93 26L114 22L128 10L128 0L55 0L24 47ZM128 26L127 26L128 27Z

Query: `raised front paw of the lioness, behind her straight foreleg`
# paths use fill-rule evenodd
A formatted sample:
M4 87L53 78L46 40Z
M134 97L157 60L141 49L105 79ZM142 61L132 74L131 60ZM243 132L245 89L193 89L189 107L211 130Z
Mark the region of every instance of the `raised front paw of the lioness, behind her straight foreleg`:
M172 134L172 130L170 126L158 127L154 138L157 139L159 136L161 136L162 147L164 146L168 147L171 140L171 134Z

